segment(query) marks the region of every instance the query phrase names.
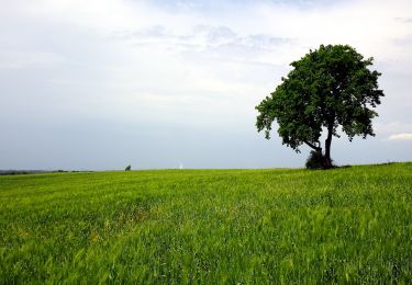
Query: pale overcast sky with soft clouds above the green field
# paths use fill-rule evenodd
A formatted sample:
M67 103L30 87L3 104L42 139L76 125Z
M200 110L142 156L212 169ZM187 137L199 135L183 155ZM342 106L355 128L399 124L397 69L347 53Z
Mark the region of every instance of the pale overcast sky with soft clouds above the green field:
M0 169L302 167L254 107L320 44L375 57L386 94L333 159L412 160L410 0L0 3Z

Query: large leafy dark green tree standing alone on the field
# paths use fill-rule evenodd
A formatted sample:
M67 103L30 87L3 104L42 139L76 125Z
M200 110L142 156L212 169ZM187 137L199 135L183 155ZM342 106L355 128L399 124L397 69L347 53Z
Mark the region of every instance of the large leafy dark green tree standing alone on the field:
M281 84L259 105L256 127L270 138L271 124L279 125L282 144L300 152L307 144L321 157L321 167L331 168L332 137L339 137L337 127L348 136L375 136L371 110L383 96L378 89L378 71L369 70L374 58L364 59L348 45L321 45L290 65L293 69ZM322 132L326 130L324 152Z

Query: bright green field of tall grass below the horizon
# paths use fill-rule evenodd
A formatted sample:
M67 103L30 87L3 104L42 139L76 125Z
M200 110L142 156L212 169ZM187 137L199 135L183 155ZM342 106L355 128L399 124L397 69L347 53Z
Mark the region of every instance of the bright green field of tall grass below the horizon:
M0 283L411 283L412 163L0 176Z

